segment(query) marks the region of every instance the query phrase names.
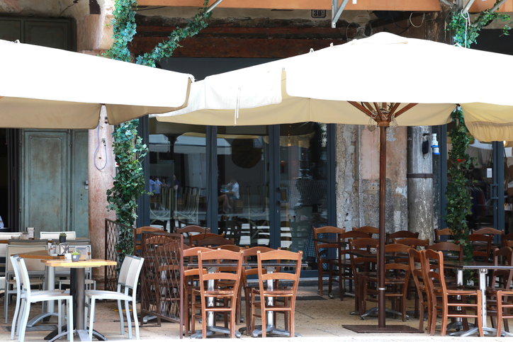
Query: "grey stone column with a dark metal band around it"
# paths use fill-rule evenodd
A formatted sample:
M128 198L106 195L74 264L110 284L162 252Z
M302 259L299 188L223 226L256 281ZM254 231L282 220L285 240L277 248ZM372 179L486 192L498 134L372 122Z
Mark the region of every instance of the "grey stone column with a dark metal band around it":
M433 166L429 126L407 127L408 230L419 232L419 239L433 242ZM427 138L428 153L422 153Z

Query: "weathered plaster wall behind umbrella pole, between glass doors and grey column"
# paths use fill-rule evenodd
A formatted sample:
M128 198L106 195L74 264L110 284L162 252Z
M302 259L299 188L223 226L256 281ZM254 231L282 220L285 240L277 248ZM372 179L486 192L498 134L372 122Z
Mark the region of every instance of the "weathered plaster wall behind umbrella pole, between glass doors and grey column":
M387 137L386 229L407 229L406 127ZM379 131L337 125L337 226L378 227Z

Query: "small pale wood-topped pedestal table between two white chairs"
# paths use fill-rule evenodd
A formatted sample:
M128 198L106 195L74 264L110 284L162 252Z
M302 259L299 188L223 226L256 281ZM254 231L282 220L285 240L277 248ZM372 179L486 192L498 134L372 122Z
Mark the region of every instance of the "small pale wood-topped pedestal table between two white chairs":
M88 259L81 261L71 260L42 260L48 268L64 267L70 268L71 281L69 293L73 296L73 326L74 333L79 335L80 341L89 340L89 332L84 326L84 308L86 302L86 268L100 267L100 266L115 266L118 265L116 261L103 260L103 259ZM94 314L91 312L91 314ZM57 335L57 330L52 331L45 339L50 339L50 342L57 340L67 335L67 331L62 330L61 334ZM100 341L106 341L105 336L97 331L93 331L93 336Z

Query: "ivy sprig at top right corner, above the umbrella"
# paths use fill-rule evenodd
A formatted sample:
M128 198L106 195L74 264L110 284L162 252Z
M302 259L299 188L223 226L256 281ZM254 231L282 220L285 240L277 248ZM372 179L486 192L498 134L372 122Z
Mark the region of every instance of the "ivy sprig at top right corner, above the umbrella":
M470 15L468 13L452 11L449 16L449 23L447 23L447 30L452 32L453 44L462 47L470 47L470 45L476 44L480 30L498 20L501 22L510 21L508 25L504 25L502 28L502 35L509 35L511 17L505 13L497 12L499 8L497 5L499 4L500 0L497 0L495 6L481 12L473 22L470 22Z

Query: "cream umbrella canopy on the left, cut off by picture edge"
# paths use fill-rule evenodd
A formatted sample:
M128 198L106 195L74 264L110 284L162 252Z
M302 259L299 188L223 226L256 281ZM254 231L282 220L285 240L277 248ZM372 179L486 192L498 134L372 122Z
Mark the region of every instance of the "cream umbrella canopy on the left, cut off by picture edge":
M187 104L193 76L0 40L0 127L91 129Z

